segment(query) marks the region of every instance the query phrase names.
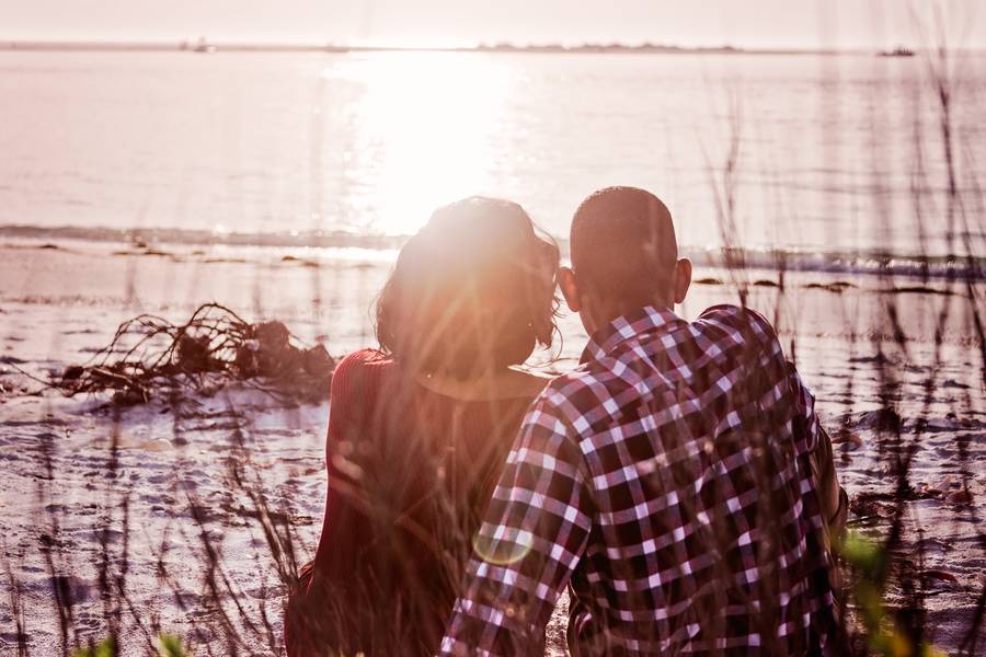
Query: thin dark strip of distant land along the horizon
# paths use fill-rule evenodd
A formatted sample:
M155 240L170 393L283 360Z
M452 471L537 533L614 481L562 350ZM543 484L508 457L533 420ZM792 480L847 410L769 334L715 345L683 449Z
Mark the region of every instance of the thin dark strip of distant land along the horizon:
M734 46L666 46L660 44L481 44L455 47L342 46L333 44L242 44L198 42L21 42L0 41L0 51L93 51L93 53L498 53L558 55L875 55L878 50L737 48Z

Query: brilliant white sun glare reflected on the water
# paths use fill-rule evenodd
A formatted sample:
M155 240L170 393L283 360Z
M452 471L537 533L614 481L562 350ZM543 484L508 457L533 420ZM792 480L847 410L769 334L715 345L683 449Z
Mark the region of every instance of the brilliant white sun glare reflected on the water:
M511 79L477 54L381 53L323 72L358 85L351 127L357 214L370 228L408 234L437 206L489 192L491 137Z

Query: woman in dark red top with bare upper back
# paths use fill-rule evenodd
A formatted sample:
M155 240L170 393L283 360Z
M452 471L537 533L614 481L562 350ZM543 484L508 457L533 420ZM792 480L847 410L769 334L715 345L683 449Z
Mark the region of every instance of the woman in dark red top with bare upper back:
M379 349L332 381L329 494L288 601L288 655L432 655L486 500L544 379L558 247L517 204L439 208L377 303Z

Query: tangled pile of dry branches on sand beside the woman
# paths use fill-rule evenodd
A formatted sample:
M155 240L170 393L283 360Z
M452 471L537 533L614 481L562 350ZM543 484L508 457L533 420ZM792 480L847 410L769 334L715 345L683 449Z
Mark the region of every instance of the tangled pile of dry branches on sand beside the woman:
M300 346L282 322L251 324L206 303L181 325L150 314L124 322L87 365L68 367L49 384L67 396L113 391L113 403L126 406L162 391L208 392L239 381L294 404L324 400L334 367L322 345Z

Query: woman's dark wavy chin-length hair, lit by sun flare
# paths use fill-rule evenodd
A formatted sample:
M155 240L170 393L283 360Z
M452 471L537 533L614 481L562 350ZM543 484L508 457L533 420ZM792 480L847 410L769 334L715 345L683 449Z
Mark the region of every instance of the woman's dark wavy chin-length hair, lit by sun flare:
M558 267L558 245L516 203L473 196L438 208L380 292L380 349L419 373L519 365L551 346Z

